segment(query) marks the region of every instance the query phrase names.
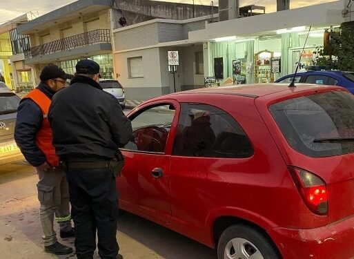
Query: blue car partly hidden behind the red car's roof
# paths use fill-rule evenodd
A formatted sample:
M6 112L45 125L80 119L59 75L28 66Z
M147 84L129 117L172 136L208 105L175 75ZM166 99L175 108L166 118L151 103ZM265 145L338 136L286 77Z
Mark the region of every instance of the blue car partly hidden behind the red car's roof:
M286 75L275 83L290 84L294 75ZM297 73L295 83L326 84L329 86L342 86L354 94L354 72L331 71L308 71Z

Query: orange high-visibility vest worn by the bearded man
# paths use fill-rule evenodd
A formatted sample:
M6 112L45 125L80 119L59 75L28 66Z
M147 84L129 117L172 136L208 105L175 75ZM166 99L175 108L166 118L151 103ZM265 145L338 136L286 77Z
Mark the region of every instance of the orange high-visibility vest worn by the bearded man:
M37 146L46 155L46 160L51 166L59 166L59 157L55 154L55 148L52 144L52 128L48 121L48 111L52 101L37 88L23 97L23 99L26 98L32 99L41 108L43 113L43 123L36 136Z

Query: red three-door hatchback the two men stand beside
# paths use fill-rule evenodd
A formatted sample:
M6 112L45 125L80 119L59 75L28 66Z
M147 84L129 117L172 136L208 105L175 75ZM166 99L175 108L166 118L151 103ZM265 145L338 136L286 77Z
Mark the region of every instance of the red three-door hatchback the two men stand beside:
M219 259L354 256L354 96L344 88L204 88L128 117L121 209Z

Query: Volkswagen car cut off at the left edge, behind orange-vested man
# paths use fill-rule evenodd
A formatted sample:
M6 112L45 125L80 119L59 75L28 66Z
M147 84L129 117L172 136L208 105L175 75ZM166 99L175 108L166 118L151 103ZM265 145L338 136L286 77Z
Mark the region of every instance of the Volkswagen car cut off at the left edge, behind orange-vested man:
M23 159L14 142L14 124L20 100L14 93L0 88L0 164Z

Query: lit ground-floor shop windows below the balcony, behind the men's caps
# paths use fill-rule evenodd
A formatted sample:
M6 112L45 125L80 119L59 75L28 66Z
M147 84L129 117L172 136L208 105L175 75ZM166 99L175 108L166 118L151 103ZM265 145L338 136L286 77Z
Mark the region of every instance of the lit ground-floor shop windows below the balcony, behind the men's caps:
M92 59L93 61L97 62L97 64L99 64L99 73L101 74L102 78L114 78L112 54L90 56L88 59ZM75 66L79 60L80 59L71 59L67 61L61 61L59 62L58 66L63 68L66 73L74 75Z

